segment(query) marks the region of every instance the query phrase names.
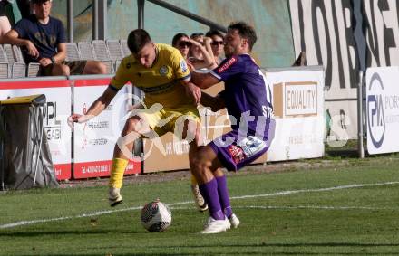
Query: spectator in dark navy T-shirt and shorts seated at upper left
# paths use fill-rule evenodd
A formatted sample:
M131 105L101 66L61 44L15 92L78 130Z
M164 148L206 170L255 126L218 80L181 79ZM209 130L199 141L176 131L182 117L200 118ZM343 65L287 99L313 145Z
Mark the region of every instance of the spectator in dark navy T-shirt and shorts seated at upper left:
M25 62L39 62L43 76L106 73L102 62L65 62L65 30L60 20L50 16L52 0L32 0L32 4L34 14L15 24L0 43L22 46Z

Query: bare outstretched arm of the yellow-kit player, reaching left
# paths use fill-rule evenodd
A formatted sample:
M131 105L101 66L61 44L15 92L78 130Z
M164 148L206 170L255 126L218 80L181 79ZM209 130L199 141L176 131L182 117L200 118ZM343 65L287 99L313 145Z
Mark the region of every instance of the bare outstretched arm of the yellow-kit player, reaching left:
M68 124L70 126L73 126L73 123L84 123L98 116L103 109L107 108L107 106L110 105L111 100L113 99L113 97L115 97L116 93L116 90L112 90L110 87L108 87L102 93L102 96L100 96L92 103L92 106L90 106L89 110L84 115L73 113L68 118Z

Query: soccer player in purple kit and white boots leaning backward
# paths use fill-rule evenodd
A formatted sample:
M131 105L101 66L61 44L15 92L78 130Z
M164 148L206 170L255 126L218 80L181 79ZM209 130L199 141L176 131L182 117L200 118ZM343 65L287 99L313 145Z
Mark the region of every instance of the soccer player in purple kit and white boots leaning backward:
M201 89L225 82L225 90L217 97L203 93L201 103L213 111L226 107L232 128L200 147L190 166L209 206L210 216L201 233L219 233L231 226L238 227L238 217L229 203L226 176L220 167L237 171L248 165L268 150L274 137L271 91L249 55L256 41L252 26L244 22L230 24L224 45L226 60L209 73L191 72L191 81Z

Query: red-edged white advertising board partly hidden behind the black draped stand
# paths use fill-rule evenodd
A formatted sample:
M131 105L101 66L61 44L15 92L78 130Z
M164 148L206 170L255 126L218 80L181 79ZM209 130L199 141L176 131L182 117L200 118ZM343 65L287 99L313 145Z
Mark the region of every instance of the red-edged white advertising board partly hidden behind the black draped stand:
M71 87L63 78L35 81L0 82L0 99L44 94L44 131L57 179L71 178L71 128L66 119L71 113Z

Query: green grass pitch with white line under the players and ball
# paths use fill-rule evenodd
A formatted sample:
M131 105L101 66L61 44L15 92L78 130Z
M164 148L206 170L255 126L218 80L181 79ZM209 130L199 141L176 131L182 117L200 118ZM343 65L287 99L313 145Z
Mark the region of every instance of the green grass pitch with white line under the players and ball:
M104 186L1 193L0 255L399 254L399 156L304 162L229 174L241 225L215 235L198 233L207 213L195 210L187 179L125 185L116 208ZM158 197L172 223L147 232L139 209Z

